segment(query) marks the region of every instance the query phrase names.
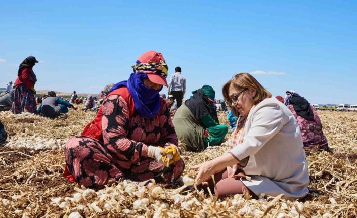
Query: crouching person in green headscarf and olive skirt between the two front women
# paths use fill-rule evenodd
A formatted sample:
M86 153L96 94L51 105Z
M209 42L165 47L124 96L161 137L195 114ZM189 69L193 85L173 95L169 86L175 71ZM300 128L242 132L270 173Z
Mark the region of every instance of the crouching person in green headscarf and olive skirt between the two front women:
M227 125L219 125L215 92L209 85L192 91L193 96L185 101L173 118L177 136L184 140L188 150L199 151L209 145L218 145L228 133Z

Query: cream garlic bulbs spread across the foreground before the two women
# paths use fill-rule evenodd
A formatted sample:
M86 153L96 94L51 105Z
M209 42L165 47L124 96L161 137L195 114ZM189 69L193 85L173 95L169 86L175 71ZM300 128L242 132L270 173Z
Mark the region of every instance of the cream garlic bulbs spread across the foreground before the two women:
M185 187L192 184L193 179L184 177ZM183 217L197 214L200 217L209 217L217 211L231 216L233 214L240 217L260 217L264 211L269 209L270 202L265 199L264 194L259 199L246 200L242 195L235 195L223 201L215 201L210 197L205 197L203 190L188 192L181 195L179 189L164 189L154 185L151 188L141 187L137 182L124 180L117 185L106 186L95 191L93 189L74 188L75 193L70 197L56 197L51 199L54 210L62 211L69 218L82 218L90 215L99 216L104 214L121 214L131 217ZM203 198L201 198L201 197ZM15 199L15 198L14 198ZM199 200L201 199L201 200ZM334 203L333 199L330 200ZM11 201L1 199L0 206L9 207ZM269 211L275 217L301 217L305 205L301 202L290 202L281 200ZM20 215L27 214L28 211L16 210L14 213ZM27 217L27 216L23 216ZM327 211L324 218L331 217L331 212Z

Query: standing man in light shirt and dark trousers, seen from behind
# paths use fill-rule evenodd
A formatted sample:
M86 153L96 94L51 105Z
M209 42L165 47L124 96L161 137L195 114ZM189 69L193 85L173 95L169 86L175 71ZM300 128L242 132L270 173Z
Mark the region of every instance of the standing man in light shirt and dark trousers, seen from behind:
M175 71L175 74L170 77L168 94L173 95L177 101L177 107L180 107L186 91L186 79L181 75L181 67L176 67Z

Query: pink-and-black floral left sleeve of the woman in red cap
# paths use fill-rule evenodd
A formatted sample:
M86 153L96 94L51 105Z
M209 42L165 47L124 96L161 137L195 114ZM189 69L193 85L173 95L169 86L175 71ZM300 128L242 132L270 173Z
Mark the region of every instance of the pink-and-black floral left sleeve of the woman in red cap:
M102 134L108 150L119 159L138 163L141 156L147 155L147 145L129 139L129 109L125 100L112 95L103 102Z

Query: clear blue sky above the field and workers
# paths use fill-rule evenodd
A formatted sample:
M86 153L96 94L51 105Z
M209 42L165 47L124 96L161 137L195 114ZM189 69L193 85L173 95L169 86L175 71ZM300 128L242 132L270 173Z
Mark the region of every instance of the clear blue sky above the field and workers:
M157 50L169 76L181 66L186 98L203 84L222 98L235 73L258 71L274 96L357 103L357 2L287 2L2 1L0 87L34 55L36 90L98 93Z

